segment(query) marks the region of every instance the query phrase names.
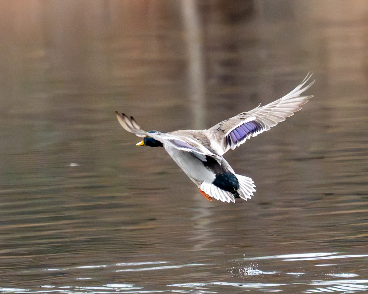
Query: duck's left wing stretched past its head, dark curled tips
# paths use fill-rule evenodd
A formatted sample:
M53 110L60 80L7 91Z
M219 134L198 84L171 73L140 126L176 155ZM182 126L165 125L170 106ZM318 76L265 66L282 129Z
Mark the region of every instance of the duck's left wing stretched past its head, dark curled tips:
M132 116L128 117L124 113L119 113L116 111L116 117L120 125L125 130L135 134L138 137L152 137L153 139L158 140L168 146L174 147L178 150L192 152L193 155L195 155L202 161L206 161L206 155L220 158L217 154L200 144L197 140L194 139L194 137L186 134L185 132L179 134L162 133L158 131L146 132L145 130L141 129L141 127Z

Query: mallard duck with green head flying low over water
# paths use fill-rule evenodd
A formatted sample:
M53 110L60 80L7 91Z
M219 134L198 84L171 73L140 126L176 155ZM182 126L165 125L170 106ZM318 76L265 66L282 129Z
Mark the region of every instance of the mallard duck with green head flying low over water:
M248 200L255 191L254 182L238 175L223 158L226 151L235 149L250 137L276 126L301 110L301 105L313 96L300 96L314 81L307 82L311 74L286 96L267 105L242 112L225 119L207 130L177 130L159 132L142 130L132 116L116 111L121 126L128 132L142 137L137 146L163 147L178 166L198 186L199 192L209 201L235 202L236 198ZM305 86L306 85L306 86Z

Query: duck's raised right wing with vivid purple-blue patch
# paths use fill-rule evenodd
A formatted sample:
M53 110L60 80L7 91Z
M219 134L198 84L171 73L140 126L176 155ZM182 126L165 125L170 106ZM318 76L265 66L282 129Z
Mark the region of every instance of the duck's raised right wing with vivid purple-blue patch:
M308 73L300 85L284 97L262 107L258 106L251 111L242 112L232 118L225 119L208 129L221 142L220 147L223 153L217 153L223 155L229 149L235 149L250 137L255 137L269 130L277 123L293 115L294 112L301 110L300 106L313 97L300 96L301 93L313 85L314 80L305 86L311 76L312 74Z

